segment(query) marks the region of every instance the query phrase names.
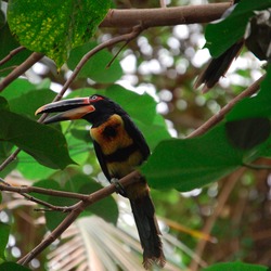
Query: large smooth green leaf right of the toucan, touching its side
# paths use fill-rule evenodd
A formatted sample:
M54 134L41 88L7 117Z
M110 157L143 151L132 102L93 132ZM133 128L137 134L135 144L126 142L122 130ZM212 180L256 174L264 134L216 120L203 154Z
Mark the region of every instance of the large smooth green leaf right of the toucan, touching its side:
M270 140L249 150L235 147L223 122L198 138L160 142L141 170L153 188L190 191L251 163L267 149L270 152Z

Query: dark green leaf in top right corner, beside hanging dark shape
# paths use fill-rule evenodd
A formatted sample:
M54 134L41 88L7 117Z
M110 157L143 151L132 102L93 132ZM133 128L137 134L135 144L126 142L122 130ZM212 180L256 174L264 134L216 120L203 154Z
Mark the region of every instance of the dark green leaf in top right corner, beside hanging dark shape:
M211 56L218 57L244 37L247 23L254 15L254 11L270 7L271 0L241 1L228 17L206 27L205 38L207 41L205 48L209 49Z

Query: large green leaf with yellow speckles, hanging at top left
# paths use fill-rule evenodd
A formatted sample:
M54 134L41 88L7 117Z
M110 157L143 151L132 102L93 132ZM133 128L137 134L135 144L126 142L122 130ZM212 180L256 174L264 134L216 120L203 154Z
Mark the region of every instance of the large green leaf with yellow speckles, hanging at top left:
M61 67L73 48L93 36L109 8L109 0L10 0L8 22L22 46Z

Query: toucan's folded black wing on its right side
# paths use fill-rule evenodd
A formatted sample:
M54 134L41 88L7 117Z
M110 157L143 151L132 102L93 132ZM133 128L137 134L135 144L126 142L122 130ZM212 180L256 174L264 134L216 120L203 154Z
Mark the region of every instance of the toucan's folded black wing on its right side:
M134 144L139 147L139 150L142 154L143 160L145 160L150 155L150 147L146 144L146 141L145 141L142 132L134 125L134 122L131 120L129 115L125 114L121 117L122 117L124 122L125 122L126 131L132 138Z

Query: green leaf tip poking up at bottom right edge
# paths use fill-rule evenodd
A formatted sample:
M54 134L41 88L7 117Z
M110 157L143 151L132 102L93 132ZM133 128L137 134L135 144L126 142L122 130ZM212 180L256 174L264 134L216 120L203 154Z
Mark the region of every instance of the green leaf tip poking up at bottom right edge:
M221 262L204 268L202 271L268 271L268 267L243 262Z

